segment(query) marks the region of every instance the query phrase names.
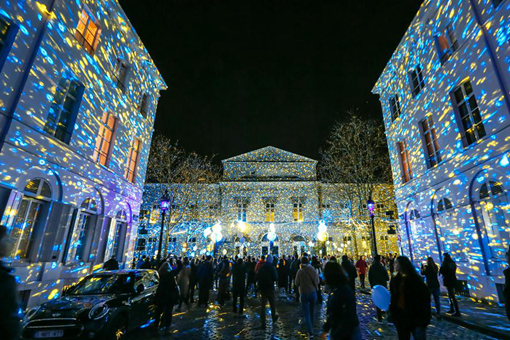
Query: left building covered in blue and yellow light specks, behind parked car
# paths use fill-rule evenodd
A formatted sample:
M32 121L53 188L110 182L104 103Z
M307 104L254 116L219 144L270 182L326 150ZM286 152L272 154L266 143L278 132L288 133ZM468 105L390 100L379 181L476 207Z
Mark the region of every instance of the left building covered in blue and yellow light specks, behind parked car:
M129 261L166 85L116 0L0 1L0 223L24 306Z

